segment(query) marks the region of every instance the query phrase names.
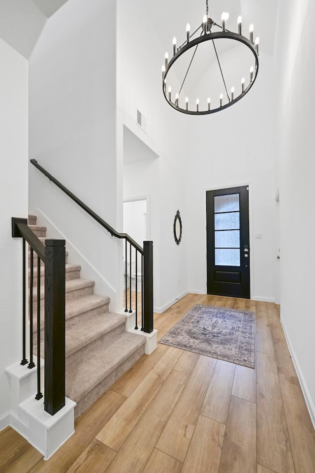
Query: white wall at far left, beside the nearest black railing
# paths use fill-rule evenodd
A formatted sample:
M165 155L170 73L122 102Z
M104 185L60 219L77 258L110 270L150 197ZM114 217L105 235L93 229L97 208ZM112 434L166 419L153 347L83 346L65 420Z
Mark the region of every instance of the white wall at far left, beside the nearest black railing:
M28 63L0 39L0 429L10 409L4 368L22 359L22 239L11 217L28 215Z

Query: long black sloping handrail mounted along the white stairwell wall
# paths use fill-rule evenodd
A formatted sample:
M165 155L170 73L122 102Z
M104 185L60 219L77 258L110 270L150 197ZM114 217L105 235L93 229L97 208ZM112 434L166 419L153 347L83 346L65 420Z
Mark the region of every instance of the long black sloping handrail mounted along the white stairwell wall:
M143 254L143 248L137 242L135 242L127 233L119 233L116 230L114 230L114 228L112 226L110 226L103 219L101 219L99 217L99 215L95 214L95 212L93 212L93 210L90 209L90 207L88 207L84 202L82 202L82 200L80 200L76 195L74 195L69 189L64 187L63 184L61 184L61 182L59 182L57 179L55 179L54 176L52 176L48 171L46 171L46 169L44 169L40 164L38 164L36 159L31 159L31 163L40 172L42 172L46 177L48 177L48 179L51 182L56 184L56 186L59 187L59 189L61 189L65 194L67 194L68 197L70 197L70 199L72 199L83 210L85 210L89 215L91 215L91 217L94 220L96 220L102 227L106 228L106 230L109 231L109 233L112 236L115 236L116 238L126 238L127 242L129 242L134 248L136 248L138 250L138 252Z

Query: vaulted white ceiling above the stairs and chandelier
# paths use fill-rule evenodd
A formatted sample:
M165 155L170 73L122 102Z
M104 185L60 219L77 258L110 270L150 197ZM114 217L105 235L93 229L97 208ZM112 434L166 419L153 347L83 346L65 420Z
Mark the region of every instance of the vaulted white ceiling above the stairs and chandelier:
M47 19L68 0L0 0L0 37L29 58ZM88 0L87 0L88 1ZM106 1L106 0L104 0ZM165 51L171 52L173 36L184 41L186 24L196 29L205 13L205 0L130 0L150 18ZM209 0L209 17L221 22L221 13L229 12L227 28L235 31L242 15L244 32L250 23L260 37L260 50L273 54L278 0ZM73 20L75 21L75 19ZM135 28L141 34L141 25Z

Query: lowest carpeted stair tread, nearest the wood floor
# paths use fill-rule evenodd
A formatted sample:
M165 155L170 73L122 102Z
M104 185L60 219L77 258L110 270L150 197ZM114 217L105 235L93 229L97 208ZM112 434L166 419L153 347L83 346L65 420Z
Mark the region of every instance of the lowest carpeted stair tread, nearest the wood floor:
M66 396L79 402L144 344L143 335L125 332L100 347L66 371Z

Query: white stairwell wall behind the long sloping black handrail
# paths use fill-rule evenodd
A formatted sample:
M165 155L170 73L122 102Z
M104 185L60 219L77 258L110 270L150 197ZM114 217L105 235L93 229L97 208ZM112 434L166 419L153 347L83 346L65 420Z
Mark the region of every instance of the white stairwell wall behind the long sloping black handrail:
M29 64L30 158L114 228L115 42L114 0L69 0L47 20ZM95 292L109 295L114 310L120 242L110 239L32 165L29 206L39 209L69 241L69 262L76 263L76 257L89 261L82 277L93 277L95 269Z

